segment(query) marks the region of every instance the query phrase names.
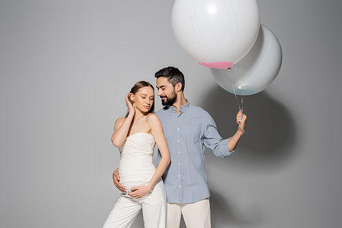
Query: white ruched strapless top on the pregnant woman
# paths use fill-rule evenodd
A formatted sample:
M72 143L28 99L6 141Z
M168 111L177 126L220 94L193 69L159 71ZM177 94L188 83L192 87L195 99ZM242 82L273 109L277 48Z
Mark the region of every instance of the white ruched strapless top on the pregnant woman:
M145 186L155 174L153 149L155 139L152 135L140 132L128 136L119 147L120 183L125 188Z

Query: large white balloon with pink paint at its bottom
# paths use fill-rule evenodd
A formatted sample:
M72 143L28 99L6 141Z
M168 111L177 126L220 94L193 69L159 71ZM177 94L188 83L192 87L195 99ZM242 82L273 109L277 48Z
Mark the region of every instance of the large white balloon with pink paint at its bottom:
M172 29L185 53L202 66L233 66L250 50L260 26L256 0L176 0Z

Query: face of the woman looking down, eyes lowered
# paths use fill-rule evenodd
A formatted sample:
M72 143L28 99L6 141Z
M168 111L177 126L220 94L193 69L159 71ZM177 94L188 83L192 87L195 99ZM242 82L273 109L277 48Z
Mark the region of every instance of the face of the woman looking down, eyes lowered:
M155 93L153 92L153 88L145 86L131 95L131 99L135 103L135 108L141 112L148 112L155 100Z

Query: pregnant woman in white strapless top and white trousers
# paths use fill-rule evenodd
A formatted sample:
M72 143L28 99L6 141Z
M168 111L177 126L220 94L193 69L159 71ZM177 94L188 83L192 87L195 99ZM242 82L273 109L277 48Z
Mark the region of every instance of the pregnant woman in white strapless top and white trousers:
M142 208L146 228L164 228L166 193L161 175L170 163L168 144L157 115L154 114L154 88L138 81L125 97L129 112L118 118L111 141L120 151L118 172L122 193L103 228L131 227ZM158 168L153 164L153 149L161 153Z

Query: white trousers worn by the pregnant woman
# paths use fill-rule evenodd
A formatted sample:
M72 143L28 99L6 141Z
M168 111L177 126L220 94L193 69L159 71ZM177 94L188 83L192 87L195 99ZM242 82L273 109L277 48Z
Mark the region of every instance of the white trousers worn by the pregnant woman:
M165 228L166 193L162 180L157 182L152 192L140 199L121 194L103 228L131 227L141 208L145 228Z

